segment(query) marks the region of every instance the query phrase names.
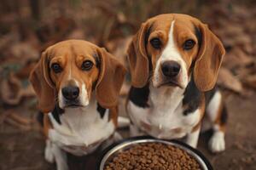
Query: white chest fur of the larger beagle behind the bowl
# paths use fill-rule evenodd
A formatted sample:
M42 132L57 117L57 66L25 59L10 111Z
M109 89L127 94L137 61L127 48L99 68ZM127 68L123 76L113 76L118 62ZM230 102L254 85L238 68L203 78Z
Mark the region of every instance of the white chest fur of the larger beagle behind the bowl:
M182 138L200 121L200 111L183 115L181 88L152 88L148 97L149 108L129 101L127 110L131 121L145 133L160 139Z

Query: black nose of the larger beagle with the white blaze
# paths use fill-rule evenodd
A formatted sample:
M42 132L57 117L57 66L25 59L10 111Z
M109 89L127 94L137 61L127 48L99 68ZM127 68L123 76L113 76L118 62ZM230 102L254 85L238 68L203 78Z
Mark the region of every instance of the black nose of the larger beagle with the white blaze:
M166 77L177 77L180 71L180 65L175 61L165 61L161 65L161 69Z

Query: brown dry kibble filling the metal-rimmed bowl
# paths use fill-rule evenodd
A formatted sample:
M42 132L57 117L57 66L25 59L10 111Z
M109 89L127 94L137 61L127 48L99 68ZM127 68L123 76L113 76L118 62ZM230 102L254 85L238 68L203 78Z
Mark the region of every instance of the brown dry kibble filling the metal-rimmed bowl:
M199 163L175 146L137 144L108 161L104 170L200 170Z

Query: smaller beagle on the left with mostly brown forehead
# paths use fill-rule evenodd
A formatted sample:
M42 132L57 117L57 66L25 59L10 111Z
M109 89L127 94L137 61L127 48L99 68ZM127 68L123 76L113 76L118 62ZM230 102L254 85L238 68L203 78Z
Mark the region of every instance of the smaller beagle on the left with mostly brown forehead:
M82 40L47 48L30 81L44 113L45 158L67 170L65 151L84 156L114 134L125 67L104 48Z

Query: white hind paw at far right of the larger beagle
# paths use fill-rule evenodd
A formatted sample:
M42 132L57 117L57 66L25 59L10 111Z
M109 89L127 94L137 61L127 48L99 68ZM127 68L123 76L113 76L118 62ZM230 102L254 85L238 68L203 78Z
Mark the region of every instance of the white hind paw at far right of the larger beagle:
M215 132L209 141L209 149L213 153L221 152L225 150L225 140L223 132Z

